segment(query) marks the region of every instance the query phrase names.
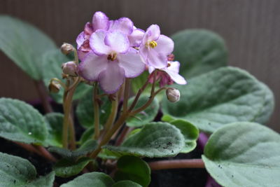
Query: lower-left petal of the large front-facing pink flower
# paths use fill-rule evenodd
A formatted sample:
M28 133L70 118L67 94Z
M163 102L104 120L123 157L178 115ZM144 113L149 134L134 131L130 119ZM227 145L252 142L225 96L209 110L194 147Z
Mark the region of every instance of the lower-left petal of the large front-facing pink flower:
M78 65L78 74L87 81L97 81L99 74L108 66L106 56L97 56L94 53L87 53L86 57Z

